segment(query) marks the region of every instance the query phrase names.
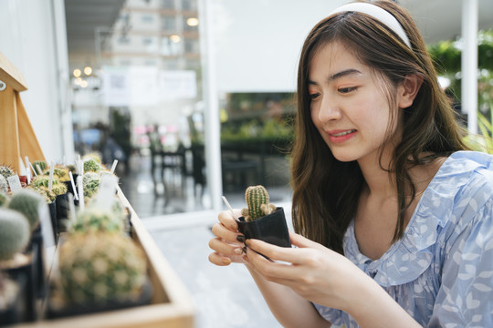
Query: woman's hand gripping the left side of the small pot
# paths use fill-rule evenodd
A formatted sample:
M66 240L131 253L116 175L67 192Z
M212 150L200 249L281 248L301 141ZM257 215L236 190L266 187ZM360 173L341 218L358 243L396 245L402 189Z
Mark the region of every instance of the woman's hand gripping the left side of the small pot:
M240 215L239 210L235 210L235 215ZM212 229L215 238L209 241L209 247L214 251L209 255L209 261L219 266L243 263L245 236L238 232L235 218L230 211L222 211L218 219Z

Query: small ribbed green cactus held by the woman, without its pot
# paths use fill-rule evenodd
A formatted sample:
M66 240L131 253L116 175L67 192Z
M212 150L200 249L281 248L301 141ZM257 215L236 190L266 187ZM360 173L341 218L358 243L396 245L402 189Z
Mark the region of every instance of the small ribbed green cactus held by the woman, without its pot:
M276 205L269 203L268 192L261 185L248 187L245 201L247 208L241 210L241 215L246 221L260 219L276 210Z

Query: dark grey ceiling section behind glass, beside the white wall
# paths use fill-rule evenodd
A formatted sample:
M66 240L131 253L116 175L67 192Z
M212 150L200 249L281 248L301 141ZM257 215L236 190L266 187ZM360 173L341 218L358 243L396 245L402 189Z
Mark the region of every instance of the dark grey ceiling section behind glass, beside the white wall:
M126 0L65 0L68 53L96 54L96 29L110 28Z

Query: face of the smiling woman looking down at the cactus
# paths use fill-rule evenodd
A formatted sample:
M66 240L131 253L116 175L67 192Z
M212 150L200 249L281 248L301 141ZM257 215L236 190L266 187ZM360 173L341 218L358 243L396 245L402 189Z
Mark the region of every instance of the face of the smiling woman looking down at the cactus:
M378 159L391 118L378 80L341 43L322 46L313 56L309 68L311 119L336 159ZM393 124L390 133L395 131Z

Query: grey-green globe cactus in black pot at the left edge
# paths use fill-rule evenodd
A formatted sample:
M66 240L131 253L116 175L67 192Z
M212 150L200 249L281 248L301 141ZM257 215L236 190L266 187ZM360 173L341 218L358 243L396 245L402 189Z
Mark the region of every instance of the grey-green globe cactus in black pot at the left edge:
M30 231L29 222L22 213L0 209L0 271L22 286L21 316L24 321L37 319L37 250L27 251ZM4 321L0 320L0 323Z

